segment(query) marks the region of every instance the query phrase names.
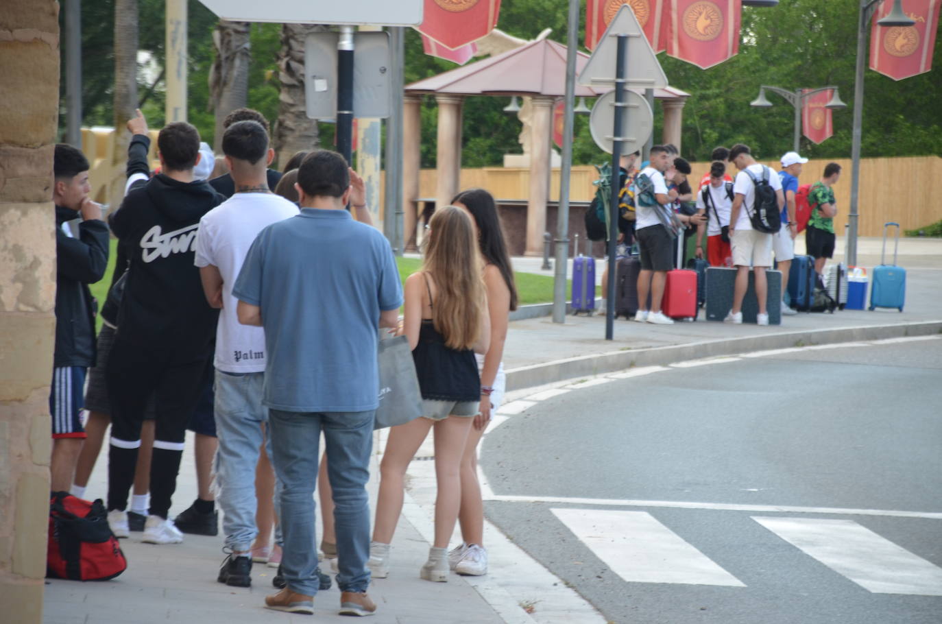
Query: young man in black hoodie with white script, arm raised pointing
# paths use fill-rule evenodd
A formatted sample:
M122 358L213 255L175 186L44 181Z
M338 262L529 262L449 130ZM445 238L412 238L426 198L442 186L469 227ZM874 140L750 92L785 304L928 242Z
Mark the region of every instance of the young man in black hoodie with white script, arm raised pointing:
M138 146L146 155L150 139L135 134L129 153ZM107 506L108 522L126 532L141 421L154 393L151 505L143 541L172 544L183 541L183 534L168 518L171 496L218 316L206 303L193 266L196 230L203 215L224 198L205 180L193 179L200 135L192 125L167 125L157 137L157 149L162 172L146 182L140 176L111 218L130 264L106 371L112 410Z

